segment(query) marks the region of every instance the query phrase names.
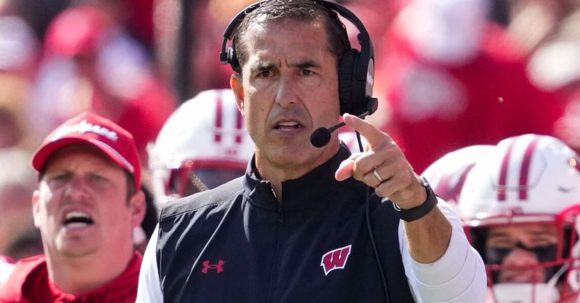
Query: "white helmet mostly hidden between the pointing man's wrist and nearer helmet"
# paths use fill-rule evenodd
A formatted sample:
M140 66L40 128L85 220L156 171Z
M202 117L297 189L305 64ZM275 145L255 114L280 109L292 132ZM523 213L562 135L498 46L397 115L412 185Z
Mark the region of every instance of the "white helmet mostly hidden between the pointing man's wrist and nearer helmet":
M458 197L467 174L477 161L494 149L495 145L473 145L451 151L429 165L421 176L429 181L435 194L458 213Z

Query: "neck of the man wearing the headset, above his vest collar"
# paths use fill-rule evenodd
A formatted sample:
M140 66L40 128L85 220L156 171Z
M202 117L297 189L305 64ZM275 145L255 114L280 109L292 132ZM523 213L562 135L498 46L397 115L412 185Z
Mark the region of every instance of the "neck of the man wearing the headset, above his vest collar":
M332 141L331 141L332 142ZM312 161L302 163L284 163L278 164L273 161L268 161L256 149L256 169L262 180L270 181L270 186L276 195L278 202L282 202L282 182L285 180L298 179L307 173L311 172L324 162L328 161L338 151L338 140L334 143L329 143L324 147L324 151L319 157L315 157Z

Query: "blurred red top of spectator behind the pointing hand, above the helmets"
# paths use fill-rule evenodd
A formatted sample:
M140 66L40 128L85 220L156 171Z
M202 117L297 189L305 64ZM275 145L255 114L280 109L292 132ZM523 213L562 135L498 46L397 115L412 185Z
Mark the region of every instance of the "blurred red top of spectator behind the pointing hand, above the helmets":
M383 130L416 172L461 147L553 135L564 104L530 83L523 58L501 28L490 24L478 56L454 67L418 58L397 32L390 40L383 71L392 120Z

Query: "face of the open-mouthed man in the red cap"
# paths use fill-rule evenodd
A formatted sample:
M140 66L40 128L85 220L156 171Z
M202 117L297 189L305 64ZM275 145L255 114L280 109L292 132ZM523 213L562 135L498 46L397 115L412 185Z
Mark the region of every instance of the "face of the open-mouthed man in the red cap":
M89 146L64 147L46 164L32 198L34 224L46 254L85 257L132 245L131 231L143 219L139 194L126 200L124 171Z

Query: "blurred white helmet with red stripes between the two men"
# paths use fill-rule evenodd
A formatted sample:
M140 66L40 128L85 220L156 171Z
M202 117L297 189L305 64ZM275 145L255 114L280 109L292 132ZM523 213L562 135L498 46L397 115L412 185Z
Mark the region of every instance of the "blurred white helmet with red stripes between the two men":
M244 175L255 145L229 89L184 102L147 147L155 201L164 204Z

